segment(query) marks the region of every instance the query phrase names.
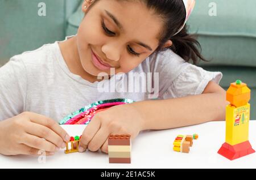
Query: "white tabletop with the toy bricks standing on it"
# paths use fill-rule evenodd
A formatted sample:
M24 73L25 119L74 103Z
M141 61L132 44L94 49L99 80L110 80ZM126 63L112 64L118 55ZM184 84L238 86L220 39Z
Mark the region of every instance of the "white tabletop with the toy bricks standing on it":
M70 135L80 135L83 125L63 126ZM256 149L256 121L250 121L249 141ZM179 134L199 134L189 153L172 150ZM161 131L143 131L132 142L131 164L109 164L101 152L65 154L61 149L45 163L35 156L0 155L0 168L256 168L256 153L230 161L217 151L225 142L225 121ZM42 160L42 159L41 159Z

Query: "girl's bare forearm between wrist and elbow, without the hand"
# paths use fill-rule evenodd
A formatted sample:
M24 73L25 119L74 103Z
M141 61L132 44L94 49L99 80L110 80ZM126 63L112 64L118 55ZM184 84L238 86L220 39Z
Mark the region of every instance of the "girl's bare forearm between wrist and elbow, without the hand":
M142 114L143 130L162 130L225 120L227 104L223 93L204 93L168 100L140 101L131 105Z

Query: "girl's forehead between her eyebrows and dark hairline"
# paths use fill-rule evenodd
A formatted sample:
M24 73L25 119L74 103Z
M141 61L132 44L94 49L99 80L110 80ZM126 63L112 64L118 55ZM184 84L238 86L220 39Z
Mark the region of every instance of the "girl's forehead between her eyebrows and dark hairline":
M142 2L100 0L96 6L104 16L109 17L106 11L115 16L123 27L121 35L151 44L158 43L162 21ZM115 24L111 18L108 19Z

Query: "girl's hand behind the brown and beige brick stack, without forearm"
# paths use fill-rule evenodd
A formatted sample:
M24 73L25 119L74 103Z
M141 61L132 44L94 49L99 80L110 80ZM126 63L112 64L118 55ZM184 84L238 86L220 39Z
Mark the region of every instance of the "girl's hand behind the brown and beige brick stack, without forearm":
M129 134L134 139L143 130L141 113L132 104L117 105L98 112L85 128L80 140L79 152L90 151L108 153L110 134Z

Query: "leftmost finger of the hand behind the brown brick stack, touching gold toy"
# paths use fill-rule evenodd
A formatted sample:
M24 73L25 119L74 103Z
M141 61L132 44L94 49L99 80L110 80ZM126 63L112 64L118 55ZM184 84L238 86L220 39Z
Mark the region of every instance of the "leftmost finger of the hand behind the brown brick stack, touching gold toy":
M101 122L94 116L89 125L86 126L84 132L82 132L82 137L79 143L79 152L84 152L87 149L90 140L92 140L100 127Z

